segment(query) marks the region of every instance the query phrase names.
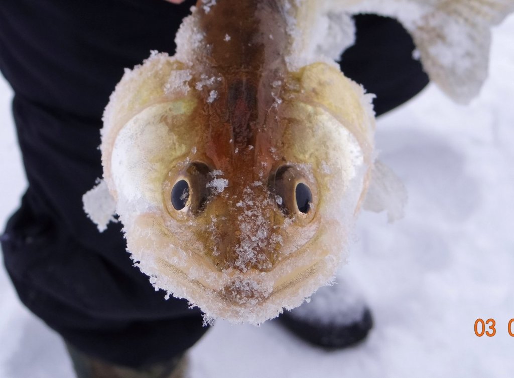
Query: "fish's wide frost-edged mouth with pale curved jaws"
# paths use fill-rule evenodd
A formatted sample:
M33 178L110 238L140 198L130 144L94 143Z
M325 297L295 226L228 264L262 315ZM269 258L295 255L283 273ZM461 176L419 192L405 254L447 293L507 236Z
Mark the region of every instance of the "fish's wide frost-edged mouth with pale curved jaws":
M260 324L278 316L283 308L299 306L332 279L341 254L340 248L331 248L340 245L338 241L326 240L337 235L331 224L320 224L313 237L266 272L219 270L206 255L187 252L191 248L180 242L183 238L173 235L155 214L146 214L133 224L139 230L153 229L151 233L138 236L129 229L126 238L137 266L168 296L188 299L209 318Z

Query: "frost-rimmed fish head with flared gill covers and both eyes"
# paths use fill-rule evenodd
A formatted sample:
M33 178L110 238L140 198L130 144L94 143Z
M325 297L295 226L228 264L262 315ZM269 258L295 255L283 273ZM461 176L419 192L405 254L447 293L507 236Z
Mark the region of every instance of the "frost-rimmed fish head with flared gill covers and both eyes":
M367 185L373 116L362 89L324 64L289 74L262 119L252 85L221 82L212 103L178 90L122 121L105 136L105 179L156 288L210 317L261 323L332 279Z

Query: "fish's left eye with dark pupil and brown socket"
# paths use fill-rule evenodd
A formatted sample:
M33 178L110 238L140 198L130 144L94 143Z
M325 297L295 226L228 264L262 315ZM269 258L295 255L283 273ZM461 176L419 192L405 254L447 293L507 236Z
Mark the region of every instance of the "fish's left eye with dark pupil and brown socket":
M181 169L172 169L164 180L164 203L172 216L199 215L211 196L207 187L212 169L205 163L192 162Z

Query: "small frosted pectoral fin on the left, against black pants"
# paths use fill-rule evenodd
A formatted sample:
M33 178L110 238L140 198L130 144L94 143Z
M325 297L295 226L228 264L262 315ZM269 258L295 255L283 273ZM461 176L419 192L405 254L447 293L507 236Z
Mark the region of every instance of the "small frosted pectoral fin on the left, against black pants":
M98 227L98 231L107 229L109 222L117 222L114 218L116 213L116 201L114 200L107 183L100 180L96 186L82 196L84 211Z

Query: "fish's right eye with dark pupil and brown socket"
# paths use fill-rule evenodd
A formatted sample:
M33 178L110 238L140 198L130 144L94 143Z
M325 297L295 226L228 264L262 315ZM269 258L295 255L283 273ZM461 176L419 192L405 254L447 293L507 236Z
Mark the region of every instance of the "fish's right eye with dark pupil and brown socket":
M297 216L301 223L308 223L314 217L316 185L301 169L283 165L271 174L269 191L285 216ZM314 195L313 195L314 188Z

